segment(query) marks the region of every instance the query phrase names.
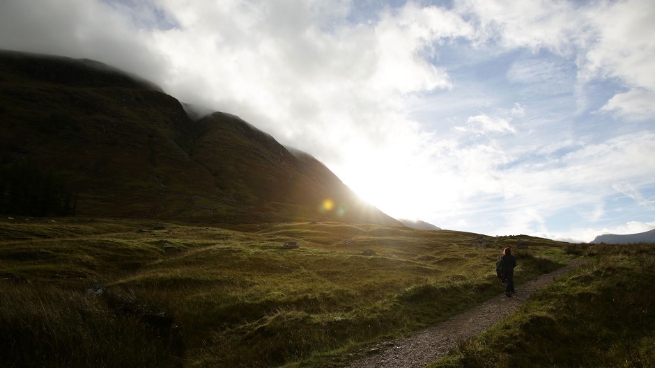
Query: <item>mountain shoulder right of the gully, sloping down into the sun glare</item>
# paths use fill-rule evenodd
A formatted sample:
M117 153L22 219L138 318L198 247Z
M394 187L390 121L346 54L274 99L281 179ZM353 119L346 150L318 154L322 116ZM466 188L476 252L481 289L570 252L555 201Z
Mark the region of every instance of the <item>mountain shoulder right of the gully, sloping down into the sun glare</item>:
M346 223L402 224L362 202L309 154L280 145L272 136L227 113L198 121L202 133L193 158L216 178L232 204L228 215L254 222L330 218ZM321 209L323 201L334 207Z

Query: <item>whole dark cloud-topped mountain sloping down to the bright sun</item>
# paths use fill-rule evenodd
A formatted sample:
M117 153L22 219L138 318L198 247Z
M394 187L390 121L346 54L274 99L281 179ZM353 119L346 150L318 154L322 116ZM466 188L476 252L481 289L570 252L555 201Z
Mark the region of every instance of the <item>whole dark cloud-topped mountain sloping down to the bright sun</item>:
M0 212L402 226L311 155L198 111L98 61L0 51Z

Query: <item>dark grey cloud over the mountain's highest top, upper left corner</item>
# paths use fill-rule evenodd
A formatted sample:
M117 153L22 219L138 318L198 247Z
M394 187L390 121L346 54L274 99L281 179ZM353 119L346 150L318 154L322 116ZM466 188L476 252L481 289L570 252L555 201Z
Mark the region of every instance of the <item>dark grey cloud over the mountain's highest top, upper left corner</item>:
M99 1L3 1L0 47L92 58L160 81L167 61L153 49L151 33L135 29L123 10Z

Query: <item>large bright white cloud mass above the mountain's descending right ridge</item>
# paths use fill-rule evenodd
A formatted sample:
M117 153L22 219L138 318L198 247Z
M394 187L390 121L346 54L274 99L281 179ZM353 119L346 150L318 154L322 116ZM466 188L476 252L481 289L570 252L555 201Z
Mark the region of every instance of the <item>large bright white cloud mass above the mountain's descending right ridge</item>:
M282 3L201 3L190 11L169 1L180 29L156 35L173 69L165 85L323 159L337 145L402 129L409 95L450 86L445 70L426 61L432 43L470 32L439 8L407 6L386 10L375 24L329 27L329 15L314 18L318 3Z

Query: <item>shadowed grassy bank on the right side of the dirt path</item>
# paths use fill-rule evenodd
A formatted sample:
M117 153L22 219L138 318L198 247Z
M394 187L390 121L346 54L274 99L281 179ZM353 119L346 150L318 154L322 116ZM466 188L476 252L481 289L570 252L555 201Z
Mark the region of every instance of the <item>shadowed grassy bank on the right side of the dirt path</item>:
M655 245L570 250L595 259L429 367L655 367Z

